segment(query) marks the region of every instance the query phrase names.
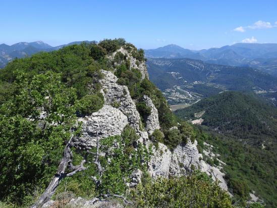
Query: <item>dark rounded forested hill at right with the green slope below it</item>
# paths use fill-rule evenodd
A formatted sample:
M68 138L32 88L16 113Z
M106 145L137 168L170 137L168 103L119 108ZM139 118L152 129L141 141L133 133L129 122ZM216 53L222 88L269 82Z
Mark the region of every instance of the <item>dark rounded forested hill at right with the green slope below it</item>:
M230 188L236 179L242 187L255 190L268 206L277 204L275 107L254 94L230 91L205 98L175 113L184 120L203 119L197 128L213 134L213 137L204 136L203 140L212 144L213 152L227 163L224 170Z

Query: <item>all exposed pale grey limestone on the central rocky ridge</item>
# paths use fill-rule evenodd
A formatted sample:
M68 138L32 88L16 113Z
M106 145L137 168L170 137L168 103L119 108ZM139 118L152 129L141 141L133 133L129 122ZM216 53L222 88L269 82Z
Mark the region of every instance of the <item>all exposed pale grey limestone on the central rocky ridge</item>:
M128 51L124 48L118 51L121 51L121 53L128 57L131 61L131 67L135 68L137 61L129 55ZM115 56L115 53L113 56ZM112 59L113 57L110 58ZM148 77L146 67L144 69L143 65L141 65L140 70L144 76L143 78ZM200 163L199 158L202 158L202 154L198 152L197 141L192 143L188 140L187 144L178 145L173 151L162 143L158 143L156 148L152 141L148 139L148 135L151 135L155 129L160 129L158 111L153 105L152 100L146 95L142 98L145 105L151 108L151 113L144 117L145 131L143 130L140 114L136 109L135 101L130 96L128 87L119 85L117 83L118 78L113 72L102 70L102 73L104 78L100 80L100 83L102 84L101 92L104 95L105 105L91 116L79 119L79 121L83 121L83 134L81 138L74 141L76 146L81 148L95 146L97 129L98 136L101 139L108 136L120 135L124 127L129 124L140 136L140 142L146 144L148 148L151 147L153 155L151 155L150 162L148 163L148 171L153 178L158 176L180 177L187 174L192 166L211 174L210 170L213 167L208 167L203 162ZM172 127L171 129L177 129L177 127ZM136 186L141 180L140 170L133 172L130 177L131 183L129 186ZM221 178L223 179L223 177ZM222 185L223 188L227 187L224 182Z

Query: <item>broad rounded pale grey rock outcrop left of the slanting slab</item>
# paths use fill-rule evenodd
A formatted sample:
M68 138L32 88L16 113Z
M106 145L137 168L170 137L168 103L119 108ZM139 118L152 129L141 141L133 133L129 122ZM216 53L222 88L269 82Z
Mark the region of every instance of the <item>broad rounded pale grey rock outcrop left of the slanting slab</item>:
M127 117L118 109L104 105L99 111L91 116L79 118L83 122L83 133L80 138L74 141L78 147L91 148L96 146L98 129L99 138L120 135L128 124Z

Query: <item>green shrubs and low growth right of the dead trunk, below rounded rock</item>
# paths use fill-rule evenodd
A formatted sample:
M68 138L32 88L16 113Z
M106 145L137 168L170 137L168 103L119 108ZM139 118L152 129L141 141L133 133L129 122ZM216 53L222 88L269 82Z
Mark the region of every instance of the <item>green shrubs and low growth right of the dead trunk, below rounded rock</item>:
M143 170L145 173L146 163L149 161L149 153L143 144L138 144L137 150L134 148L133 142L137 139L136 131L126 126L121 136L101 140L100 151L106 154L106 157L100 159L101 166L105 170L103 174L99 175L97 167L92 164L93 160L88 159L88 164L92 165L73 177L65 178L56 195L64 192L65 189L77 197L87 199L100 194L124 194L127 189L126 182L131 180L131 173L137 169ZM115 144L117 144L117 148L110 148ZM107 158L110 160L107 161ZM145 161L145 163L141 163L141 161ZM98 184L91 179L92 176L97 178Z

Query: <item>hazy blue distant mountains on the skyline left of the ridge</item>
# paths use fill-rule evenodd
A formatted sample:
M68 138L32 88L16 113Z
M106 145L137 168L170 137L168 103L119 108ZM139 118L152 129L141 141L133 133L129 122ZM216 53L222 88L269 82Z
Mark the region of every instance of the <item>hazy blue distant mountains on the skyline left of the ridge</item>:
M23 58L39 53L40 51L58 50L67 45L80 44L81 42L92 41L75 41L64 45L51 46L42 41L36 42L19 42L13 45L0 44L0 68L4 68L11 60L15 58Z

